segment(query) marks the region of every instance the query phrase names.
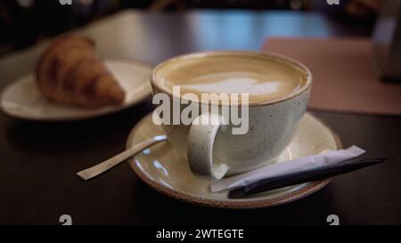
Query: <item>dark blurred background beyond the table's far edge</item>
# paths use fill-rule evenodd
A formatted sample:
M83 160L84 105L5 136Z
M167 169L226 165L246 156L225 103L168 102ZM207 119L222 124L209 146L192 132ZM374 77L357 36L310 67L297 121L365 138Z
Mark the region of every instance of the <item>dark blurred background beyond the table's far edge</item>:
M380 3L381 0L2 0L0 56L124 9L170 14L201 10L323 12L333 20L358 22L372 29Z

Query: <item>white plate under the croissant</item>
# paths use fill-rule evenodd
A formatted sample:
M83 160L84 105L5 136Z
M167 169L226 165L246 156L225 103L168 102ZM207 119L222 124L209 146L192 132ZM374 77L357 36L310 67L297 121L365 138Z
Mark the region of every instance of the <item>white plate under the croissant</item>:
M35 74L30 73L8 85L1 96L1 109L17 118L41 121L78 120L127 109L151 94L151 66L141 61L106 60L105 64L126 91L120 106L85 109L48 100L37 87Z

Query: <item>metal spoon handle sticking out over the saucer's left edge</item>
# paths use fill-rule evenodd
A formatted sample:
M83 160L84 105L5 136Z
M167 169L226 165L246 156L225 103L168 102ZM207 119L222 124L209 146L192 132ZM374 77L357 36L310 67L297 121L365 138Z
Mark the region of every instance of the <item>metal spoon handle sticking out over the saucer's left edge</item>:
M141 152L142 150L151 147L151 145L156 144L158 142L166 141L167 136L166 135L160 135L160 136L154 136L151 139L145 140L143 142L139 142L136 144L134 147L125 150L118 155L109 158L100 164L97 164L96 166L89 167L85 170L82 170L77 173L77 175L83 179L84 181L87 181L91 178L93 178L96 175L102 174L105 171L108 171L110 168L119 165L121 162L126 160L127 158L130 158L134 156L135 154Z

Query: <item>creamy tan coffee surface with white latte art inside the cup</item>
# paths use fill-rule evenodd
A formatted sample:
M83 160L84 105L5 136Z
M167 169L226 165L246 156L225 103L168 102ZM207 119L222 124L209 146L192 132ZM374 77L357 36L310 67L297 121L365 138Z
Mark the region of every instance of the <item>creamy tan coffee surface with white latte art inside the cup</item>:
M157 83L181 95L195 93L249 93L250 102L280 100L307 83L295 65L263 55L220 54L189 57L166 63L157 71Z

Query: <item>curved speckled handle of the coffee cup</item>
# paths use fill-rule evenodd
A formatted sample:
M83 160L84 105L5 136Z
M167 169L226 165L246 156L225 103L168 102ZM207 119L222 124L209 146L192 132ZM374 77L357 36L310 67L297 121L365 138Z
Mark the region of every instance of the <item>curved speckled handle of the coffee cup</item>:
M202 124L202 120L208 123ZM217 114L205 113L196 117L188 134L187 158L193 174L221 179L229 166L213 163L213 144L223 117Z

